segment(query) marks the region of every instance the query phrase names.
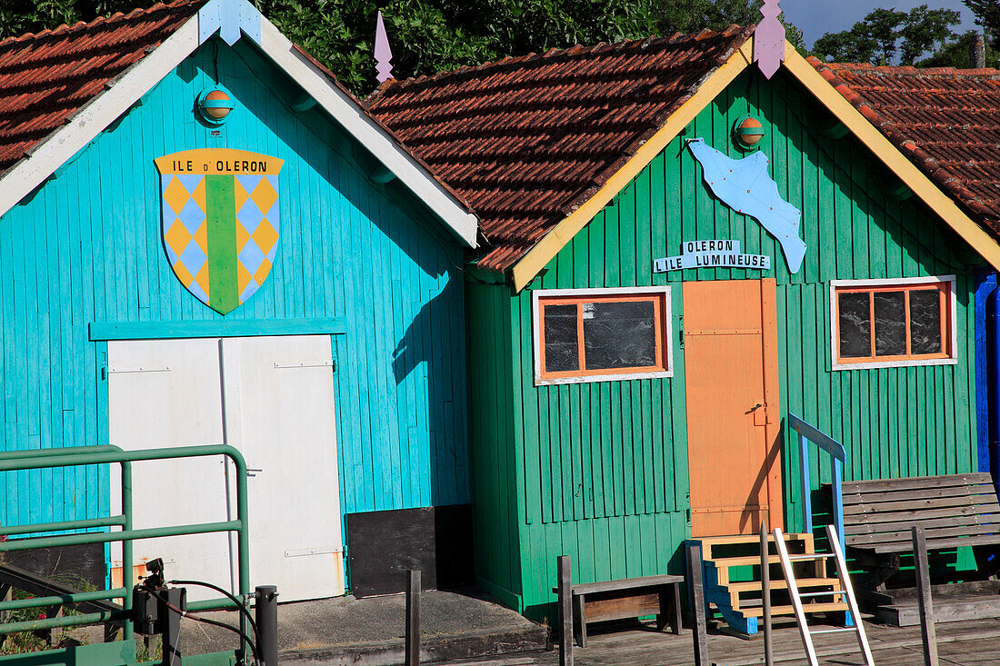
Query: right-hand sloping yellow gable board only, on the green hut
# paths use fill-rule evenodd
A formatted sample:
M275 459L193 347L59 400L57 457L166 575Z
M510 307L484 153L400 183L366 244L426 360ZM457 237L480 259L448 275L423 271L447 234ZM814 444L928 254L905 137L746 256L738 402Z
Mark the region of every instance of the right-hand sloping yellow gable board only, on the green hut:
M806 62L806 59L788 42L785 43L785 68L948 226L965 239L993 268L1000 270L1000 245L861 115L861 112L837 92L830 82Z

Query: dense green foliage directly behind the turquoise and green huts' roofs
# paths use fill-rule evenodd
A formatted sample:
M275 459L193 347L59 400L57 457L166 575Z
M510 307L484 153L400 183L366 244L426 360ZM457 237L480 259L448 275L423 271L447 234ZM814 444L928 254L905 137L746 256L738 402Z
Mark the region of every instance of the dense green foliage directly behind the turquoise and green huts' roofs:
M130 11L154 0L0 0L0 38ZM761 0L255 0L257 7L358 93L375 86L381 9L393 74L407 78L575 44L721 30L760 20ZM802 46L802 33L787 25Z

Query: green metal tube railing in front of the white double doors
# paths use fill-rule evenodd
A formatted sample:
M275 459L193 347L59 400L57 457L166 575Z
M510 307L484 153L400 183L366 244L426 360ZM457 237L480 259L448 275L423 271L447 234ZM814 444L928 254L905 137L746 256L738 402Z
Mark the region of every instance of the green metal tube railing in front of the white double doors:
M200 458L222 455L229 458L236 466L236 520L216 523L196 523L188 525L173 525L147 529L134 529L132 526L132 463L144 460L170 460L176 458ZM250 548L247 527L247 466L243 455L231 446L212 444L207 446L182 446L175 448L145 449L140 451L124 451L114 445L79 446L57 449L9 451L0 453L0 472L14 472L28 469L48 469L53 467L71 467L76 465L98 465L119 463L121 465L122 513L107 518L88 518L83 520L67 520L52 523L35 523L28 525L5 526L0 528L4 534L37 534L39 532L58 532L65 530L93 529L99 527L120 527L116 532L85 532L78 534L60 534L54 536L28 537L24 539L8 539L0 542L0 554L18 550L49 548L54 546L70 546L90 543L122 542L122 587L96 592L78 592L51 597L33 599L18 599L0 602L0 612L54 606L57 604L72 604L84 601L99 601L122 599L122 610L103 611L68 615L64 617L25 620L20 622L0 623L0 635L21 631L37 631L86 624L104 624L121 622L123 624L123 639L134 639L132 618L132 542L137 539L155 537L182 536L187 534L204 534L210 532L237 532L237 561L239 566L239 596L246 602L250 597ZM206 599L190 602L189 611L207 610L212 608L229 608L234 604L227 598ZM249 623L244 614L240 614L240 628L244 634L249 631ZM240 651L247 654L247 645L241 639Z

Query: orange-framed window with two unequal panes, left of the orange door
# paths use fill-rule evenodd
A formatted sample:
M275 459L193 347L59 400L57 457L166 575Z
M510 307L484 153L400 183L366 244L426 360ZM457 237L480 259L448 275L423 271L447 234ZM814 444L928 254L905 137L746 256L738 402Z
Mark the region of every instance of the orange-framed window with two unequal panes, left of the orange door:
M668 287L534 292L538 384L672 375Z

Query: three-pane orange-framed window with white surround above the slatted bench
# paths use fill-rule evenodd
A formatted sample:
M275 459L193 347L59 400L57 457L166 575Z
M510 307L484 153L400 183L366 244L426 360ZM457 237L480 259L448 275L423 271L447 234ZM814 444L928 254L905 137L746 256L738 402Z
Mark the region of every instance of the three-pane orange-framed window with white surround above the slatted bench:
M834 369L956 362L954 276L831 288Z

